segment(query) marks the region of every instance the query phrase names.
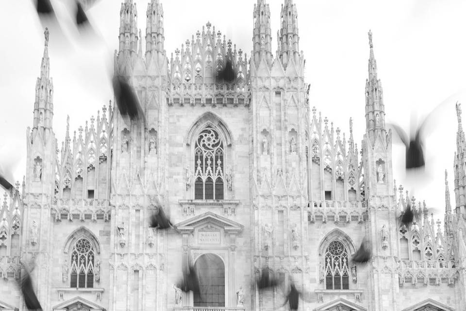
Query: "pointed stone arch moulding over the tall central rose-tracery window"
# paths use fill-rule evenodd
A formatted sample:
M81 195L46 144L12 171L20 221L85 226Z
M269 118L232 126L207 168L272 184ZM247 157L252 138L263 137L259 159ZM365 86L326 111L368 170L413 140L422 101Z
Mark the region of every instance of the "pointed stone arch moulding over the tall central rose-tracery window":
M216 114L208 111L202 114L197 121L195 121L191 126L186 135L186 145L190 146L196 140L200 131L202 131L207 126L211 126L217 133L221 136L222 140L229 147L232 145L232 132L226 125L226 123Z

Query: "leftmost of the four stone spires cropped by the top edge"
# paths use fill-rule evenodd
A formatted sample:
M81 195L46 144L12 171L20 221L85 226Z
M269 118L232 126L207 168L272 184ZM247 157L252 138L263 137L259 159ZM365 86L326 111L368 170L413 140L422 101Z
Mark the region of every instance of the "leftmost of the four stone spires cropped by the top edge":
M137 11L133 0L125 0L120 9L119 52L137 53Z

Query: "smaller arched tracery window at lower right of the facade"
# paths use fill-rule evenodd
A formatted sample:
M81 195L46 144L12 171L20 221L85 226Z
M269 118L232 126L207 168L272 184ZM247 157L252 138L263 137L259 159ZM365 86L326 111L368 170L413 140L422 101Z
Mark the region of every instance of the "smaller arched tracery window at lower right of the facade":
M350 263L348 251L340 241L330 242L325 252L325 288L350 289Z

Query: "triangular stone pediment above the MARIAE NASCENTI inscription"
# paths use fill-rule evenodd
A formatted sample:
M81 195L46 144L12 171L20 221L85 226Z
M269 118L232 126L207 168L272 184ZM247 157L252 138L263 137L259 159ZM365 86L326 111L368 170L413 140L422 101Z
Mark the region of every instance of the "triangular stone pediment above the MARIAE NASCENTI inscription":
M221 227L225 232L239 233L243 231L244 226L228 218L217 215L213 212L206 212L199 216L187 219L175 225L179 232L194 232L195 228L204 227L207 224L212 224Z

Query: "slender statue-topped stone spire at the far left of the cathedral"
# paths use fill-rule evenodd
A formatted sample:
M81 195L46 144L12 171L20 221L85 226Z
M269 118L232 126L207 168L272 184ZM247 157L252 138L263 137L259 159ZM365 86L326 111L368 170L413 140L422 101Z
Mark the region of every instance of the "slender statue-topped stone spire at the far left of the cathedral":
M40 76L35 85L33 129L51 128L53 119L53 82L50 78L49 29L44 31L44 55L40 64Z

